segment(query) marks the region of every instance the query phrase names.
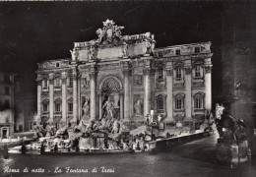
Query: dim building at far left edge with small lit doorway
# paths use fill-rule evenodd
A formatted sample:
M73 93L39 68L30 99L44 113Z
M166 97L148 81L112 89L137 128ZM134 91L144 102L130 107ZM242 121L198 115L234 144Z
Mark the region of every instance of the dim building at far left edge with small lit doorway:
M0 138L14 132L14 75L0 72Z

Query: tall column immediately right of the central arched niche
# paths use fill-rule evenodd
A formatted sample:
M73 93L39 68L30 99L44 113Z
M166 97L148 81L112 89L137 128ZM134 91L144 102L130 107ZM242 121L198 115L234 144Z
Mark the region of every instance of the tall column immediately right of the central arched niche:
M130 70L124 70L124 119L130 119L130 84L129 77L131 76Z

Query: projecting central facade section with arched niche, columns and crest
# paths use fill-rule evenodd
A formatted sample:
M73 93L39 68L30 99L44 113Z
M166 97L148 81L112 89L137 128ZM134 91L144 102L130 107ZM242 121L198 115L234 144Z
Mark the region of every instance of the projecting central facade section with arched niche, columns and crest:
M72 61L79 63L84 120L112 116L123 121L144 121L150 112L151 95L144 95L143 78L144 70L148 80L153 72L154 35L122 35L121 29L106 20L103 28L96 30L96 40L75 42L71 51ZM83 87L85 81L90 87ZM90 100L89 109L84 100Z

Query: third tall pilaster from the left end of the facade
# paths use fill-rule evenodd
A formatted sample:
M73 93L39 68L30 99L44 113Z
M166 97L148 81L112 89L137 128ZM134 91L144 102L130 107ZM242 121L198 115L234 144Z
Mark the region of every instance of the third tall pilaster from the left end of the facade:
M62 79L62 89L61 89L61 97L62 97L62 118L61 118L61 124L62 126L65 126L67 123L67 74L63 72L61 74Z

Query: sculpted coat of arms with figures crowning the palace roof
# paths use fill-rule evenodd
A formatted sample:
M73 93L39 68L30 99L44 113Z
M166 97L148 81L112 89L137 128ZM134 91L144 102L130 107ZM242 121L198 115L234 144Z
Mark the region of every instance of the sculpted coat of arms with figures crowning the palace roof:
M115 26L115 23L108 19L103 22L103 26L104 27L102 29L96 30L98 43L110 43L123 39L121 29L124 29L124 27Z

